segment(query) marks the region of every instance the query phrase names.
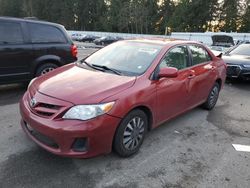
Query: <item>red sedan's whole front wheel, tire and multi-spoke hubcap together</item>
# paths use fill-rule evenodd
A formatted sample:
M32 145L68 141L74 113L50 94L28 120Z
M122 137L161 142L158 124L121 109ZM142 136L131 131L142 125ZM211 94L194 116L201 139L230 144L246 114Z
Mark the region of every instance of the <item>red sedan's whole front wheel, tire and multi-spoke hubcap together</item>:
M148 127L148 117L142 110L131 111L116 130L113 147L121 157L137 153Z

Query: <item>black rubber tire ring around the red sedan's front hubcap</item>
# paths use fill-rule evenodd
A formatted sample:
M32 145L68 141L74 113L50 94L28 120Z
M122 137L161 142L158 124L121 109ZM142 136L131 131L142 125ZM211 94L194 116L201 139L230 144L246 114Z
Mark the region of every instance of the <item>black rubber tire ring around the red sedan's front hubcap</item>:
M127 124L134 118L134 117L140 117L144 121L144 133L142 136L142 139L139 143L139 145L134 150L127 150L123 145L123 134L127 127ZM142 110L133 110L130 113L128 113L125 118L121 121L119 127L116 130L115 137L114 137L114 143L113 147L116 153L118 153L121 157L129 157L135 153L137 153L143 143L143 140L145 138L145 134L147 132L148 128L148 117Z

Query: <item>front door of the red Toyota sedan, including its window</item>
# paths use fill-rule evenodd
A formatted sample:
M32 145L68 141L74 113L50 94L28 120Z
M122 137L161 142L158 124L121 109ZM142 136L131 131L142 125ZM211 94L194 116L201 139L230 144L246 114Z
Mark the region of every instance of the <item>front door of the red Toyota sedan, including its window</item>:
M162 123L188 109L190 56L187 46L176 46L163 57L158 69L175 67L176 78L160 78L156 83L157 119Z

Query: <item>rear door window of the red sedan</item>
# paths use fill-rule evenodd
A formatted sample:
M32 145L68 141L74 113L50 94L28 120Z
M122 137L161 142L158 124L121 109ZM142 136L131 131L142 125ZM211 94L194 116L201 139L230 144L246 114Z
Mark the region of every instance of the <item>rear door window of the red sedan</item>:
M197 45L190 45L189 48L192 53L193 65L206 63L212 60L211 56L203 47Z

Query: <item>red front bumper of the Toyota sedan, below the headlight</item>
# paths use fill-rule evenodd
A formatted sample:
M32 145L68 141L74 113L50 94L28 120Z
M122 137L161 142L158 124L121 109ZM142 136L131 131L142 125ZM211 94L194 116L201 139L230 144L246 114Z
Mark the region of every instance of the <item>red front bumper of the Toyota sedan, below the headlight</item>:
M46 98L48 103L58 99L36 94L36 98ZM89 158L110 153L113 137L120 122L119 118L102 115L93 120L64 120L53 116L45 118L33 113L26 92L20 101L21 126L24 132L47 151L68 157ZM35 134L34 134L35 133ZM81 151L75 150L77 140L82 140Z

